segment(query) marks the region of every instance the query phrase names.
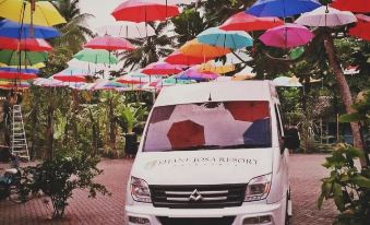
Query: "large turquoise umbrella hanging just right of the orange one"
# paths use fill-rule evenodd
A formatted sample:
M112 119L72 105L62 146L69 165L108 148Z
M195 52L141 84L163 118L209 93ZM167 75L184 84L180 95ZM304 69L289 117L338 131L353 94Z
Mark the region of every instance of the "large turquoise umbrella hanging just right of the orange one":
M253 45L253 38L241 31L223 31L218 27L207 28L196 36L198 42L230 49Z

